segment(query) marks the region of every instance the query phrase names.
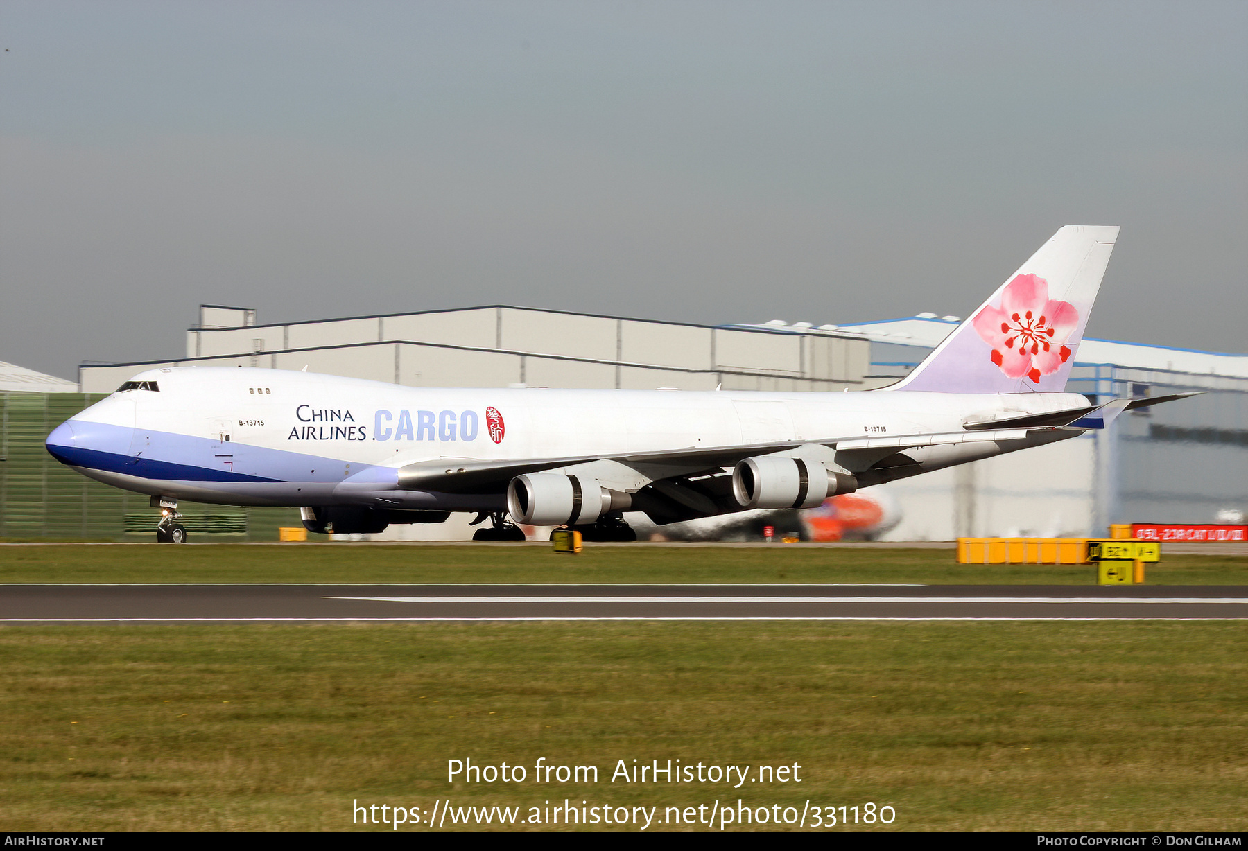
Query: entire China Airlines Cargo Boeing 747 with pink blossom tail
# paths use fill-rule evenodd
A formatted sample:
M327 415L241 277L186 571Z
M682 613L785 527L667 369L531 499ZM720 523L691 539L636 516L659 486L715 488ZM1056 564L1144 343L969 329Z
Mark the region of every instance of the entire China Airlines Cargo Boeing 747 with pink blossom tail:
M658 524L810 508L882 482L1065 440L1128 408L1066 379L1117 227L1061 228L904 381L854 393L444 389L237 368L162 368L59 426L47 450L150 494L302 509L317 533L485 518L631 539Z

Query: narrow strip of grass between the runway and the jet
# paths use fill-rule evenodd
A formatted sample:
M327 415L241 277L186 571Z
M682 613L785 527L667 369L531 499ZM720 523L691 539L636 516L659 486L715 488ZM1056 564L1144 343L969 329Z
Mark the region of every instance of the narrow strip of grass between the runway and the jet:
M1166 555L1148 583L1248 584L1248 558ZM1096 584L1093 565L957 564L952 549L378 544L0 547L0 583L924 583Z

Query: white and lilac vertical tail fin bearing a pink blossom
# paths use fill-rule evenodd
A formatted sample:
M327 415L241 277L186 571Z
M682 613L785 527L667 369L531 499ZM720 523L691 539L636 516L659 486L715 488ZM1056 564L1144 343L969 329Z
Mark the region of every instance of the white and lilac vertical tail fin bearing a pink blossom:
M1067 225L890 391L1061 392L1117 227Z

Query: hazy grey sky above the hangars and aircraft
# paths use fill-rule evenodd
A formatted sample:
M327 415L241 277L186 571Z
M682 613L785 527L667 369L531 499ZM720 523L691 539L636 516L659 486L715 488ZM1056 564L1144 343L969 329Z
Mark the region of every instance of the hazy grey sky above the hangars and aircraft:
M515 303L965 314L1122 225L1088 333L1248 349L1244 2L0 5L0 359Z

